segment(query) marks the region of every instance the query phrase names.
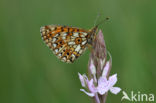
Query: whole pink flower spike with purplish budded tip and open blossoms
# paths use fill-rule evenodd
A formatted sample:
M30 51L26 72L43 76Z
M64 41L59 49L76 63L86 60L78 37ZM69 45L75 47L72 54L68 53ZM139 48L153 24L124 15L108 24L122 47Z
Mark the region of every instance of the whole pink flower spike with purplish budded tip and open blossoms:
M106 49L101 30L96 35L92 48L88 63L88 77L84 74L78 74L81 85L84 87L80 91L94 97L96 103L105 103L108 91L117 94L121 89L114 86L117 82L117 74L109 76L112 57ZM107 61L107 54L109 55L109 61Z

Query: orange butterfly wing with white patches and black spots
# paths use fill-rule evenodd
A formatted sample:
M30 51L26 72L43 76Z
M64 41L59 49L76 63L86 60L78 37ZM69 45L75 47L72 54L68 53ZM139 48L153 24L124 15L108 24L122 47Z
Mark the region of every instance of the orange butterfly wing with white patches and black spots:
M47 46L63 62L72 63L86 49L88 31L83 29L47 25L40 28Z

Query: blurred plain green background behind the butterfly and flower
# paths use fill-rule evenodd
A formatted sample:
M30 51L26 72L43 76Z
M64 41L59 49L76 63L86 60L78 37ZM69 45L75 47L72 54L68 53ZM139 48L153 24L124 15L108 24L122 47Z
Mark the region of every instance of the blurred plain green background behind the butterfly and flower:
M78 72L87 72L89 51L73 64L58 60L43 43L40 27L62 24L84 29L98 13L113 58L116 86L156 94L155 0L1 0L0 103L90 103L80 92ZM109 93L107 103L121 102ZM123 103L130 103L123 101Z

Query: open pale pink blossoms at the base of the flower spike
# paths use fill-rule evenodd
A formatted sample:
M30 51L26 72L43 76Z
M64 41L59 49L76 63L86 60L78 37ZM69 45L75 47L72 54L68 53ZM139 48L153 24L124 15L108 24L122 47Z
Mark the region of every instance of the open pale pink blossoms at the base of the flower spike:
M94 67L93 64L91 64L91 65L92 65L92 67ZM96 95L96 93L99 93L100 95L104 95L109 90L113 94L119 93L121 91L121 89L119 87L114 87L114 85L117 82L117 74L110 76L109 79L107 80L106 76L109 71L109 67L110 67L110 61L108 61L106 63L106 65L103 69L102 76L98 79L97 86L95 86L93 79L88 80L86 75L81 75L79 73L78 75L79 75L79 78L81 81L81 85L84 88L88 88L89 92L85 91L84 89L80 89L80 90L83 91L84 93L86 93L90 97L94 97Z

